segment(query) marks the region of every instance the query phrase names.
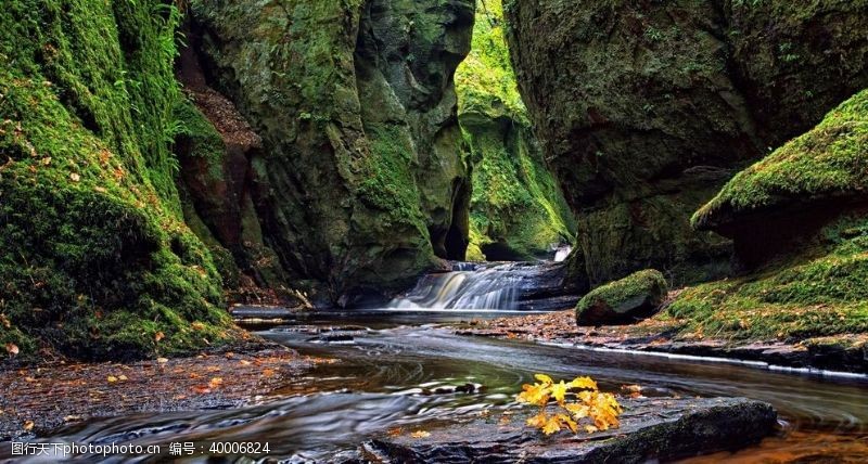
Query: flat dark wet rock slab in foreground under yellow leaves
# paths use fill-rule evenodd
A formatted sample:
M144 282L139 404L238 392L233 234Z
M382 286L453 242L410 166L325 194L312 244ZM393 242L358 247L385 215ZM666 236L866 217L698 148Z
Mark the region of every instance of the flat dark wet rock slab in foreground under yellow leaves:
M641 463L736 450L771 435L777 413L744 398L623 400L621 428L550 437L524 425L531 410L503 423L480 418L431 429L427 438L371 440L372 462L399 463Z

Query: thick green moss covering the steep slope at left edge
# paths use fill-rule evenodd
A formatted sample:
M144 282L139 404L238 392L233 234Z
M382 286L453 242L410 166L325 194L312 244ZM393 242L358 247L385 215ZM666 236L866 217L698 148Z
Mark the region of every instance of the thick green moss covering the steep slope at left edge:
M123 360L231 336L175 186L178 22L155 0L0 11L0 345L22 357Z

